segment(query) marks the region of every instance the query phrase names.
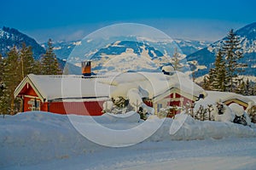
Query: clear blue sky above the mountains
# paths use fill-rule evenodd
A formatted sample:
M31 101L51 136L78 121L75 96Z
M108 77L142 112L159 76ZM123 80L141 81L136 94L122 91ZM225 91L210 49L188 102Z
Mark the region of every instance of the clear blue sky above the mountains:
M0 26L14 27L38 42L81 39L117 23L154 26L170 37L217 41L230 28L256 21L254 0L4 0Z

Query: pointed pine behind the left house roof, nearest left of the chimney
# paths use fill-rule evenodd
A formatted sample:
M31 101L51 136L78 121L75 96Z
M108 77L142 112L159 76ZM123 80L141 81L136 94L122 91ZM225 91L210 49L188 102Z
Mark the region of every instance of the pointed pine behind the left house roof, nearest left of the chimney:
M61 74L61 69L59 67L58 60L53 51L52 40L48 41L48 48L46 49L46 53L43 56L41 62L41 69L43 75L58 75Z

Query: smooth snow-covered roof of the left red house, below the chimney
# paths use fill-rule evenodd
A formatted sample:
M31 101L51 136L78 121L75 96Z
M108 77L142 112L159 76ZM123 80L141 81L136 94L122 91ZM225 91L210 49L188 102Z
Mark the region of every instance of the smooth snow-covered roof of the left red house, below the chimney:
M75 75L28 75L15 89L15 97L29 83L38 97L49 101L53 99L108 98L109 85L98 83L97 78L83 78Z

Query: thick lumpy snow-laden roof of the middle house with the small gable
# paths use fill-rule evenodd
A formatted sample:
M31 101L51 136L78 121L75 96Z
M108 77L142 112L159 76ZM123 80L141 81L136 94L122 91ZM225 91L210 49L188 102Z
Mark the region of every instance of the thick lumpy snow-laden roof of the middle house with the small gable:
M125 72L115 74L111 78L102 78L100 82L116 86L111 94L112 97L125 97L131 88L141 88L148 91L148 98L150 99L166 94L172 88L179 89L181 94L196 97L200 94L206 95L200 86L179 71L172 72L172 75L165 75L162 72Z

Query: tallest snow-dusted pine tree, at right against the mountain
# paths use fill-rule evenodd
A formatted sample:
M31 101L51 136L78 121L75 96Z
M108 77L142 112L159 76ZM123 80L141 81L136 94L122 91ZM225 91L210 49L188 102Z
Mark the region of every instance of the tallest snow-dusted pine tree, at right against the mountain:
M226 74L228 77L228 90L234 92L236 87L236 77L241 72L241 67L246 66L238 63L241 59L241 40L236 36L233 29L228 33L227 39L224 41L224 55L226 59Z

